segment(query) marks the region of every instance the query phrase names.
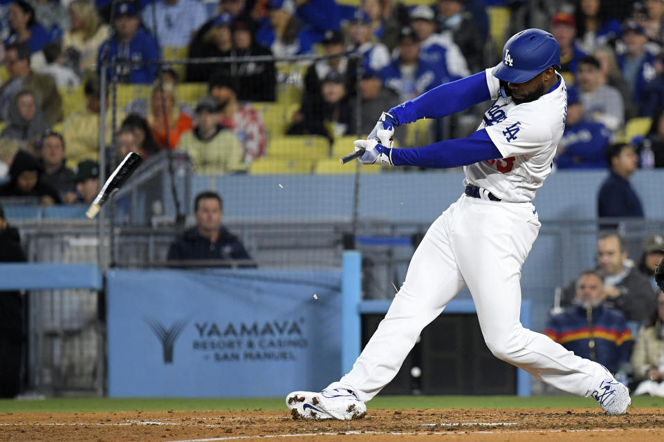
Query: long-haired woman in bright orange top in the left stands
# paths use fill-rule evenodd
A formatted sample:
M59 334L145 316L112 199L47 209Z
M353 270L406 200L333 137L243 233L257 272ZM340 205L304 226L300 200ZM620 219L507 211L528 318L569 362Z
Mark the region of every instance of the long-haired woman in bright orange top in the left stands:
M180 135L192 130L189 115L180 111L175 86L167 81L156 81L150 93L147 122L156 144L174 149Z

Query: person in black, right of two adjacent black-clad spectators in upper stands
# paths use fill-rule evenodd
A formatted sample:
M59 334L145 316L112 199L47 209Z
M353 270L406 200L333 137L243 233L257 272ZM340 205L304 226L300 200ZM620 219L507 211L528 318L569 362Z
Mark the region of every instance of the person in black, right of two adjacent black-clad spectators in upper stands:
M246 19L237 19L233 22L232 55L236 57L253 57L257 55L272 55L265 46L254 40L253 22ZM273 61L251 61L233 65L232 74L237 77L237 97L248 102L274 102L276 99L277 74Z

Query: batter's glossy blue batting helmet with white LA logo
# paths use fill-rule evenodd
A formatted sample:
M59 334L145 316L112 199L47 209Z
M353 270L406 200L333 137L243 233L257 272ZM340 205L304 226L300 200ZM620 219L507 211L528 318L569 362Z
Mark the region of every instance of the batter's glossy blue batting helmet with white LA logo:
M560 46L553 35L532 28L518 32L507 41L503 59L492 74L509 83L524 83L550 66L560 68Z

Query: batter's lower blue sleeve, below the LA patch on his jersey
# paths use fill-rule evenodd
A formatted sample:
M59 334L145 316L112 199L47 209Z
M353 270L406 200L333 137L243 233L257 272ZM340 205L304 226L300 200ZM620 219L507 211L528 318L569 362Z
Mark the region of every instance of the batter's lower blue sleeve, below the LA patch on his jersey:
M445 140L416 148L391 149L391 160L395 166L431 169L468 166L502 157L484 129L458 140Z

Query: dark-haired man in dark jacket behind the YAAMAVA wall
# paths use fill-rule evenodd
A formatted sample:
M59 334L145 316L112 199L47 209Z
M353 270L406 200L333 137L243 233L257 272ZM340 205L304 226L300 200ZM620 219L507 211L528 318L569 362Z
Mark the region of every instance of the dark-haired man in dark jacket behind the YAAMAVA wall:
M201 192L194 201L196 227L187 229L168 251L168 260L250 260L237 236L221 226L223 206L219 194Z

